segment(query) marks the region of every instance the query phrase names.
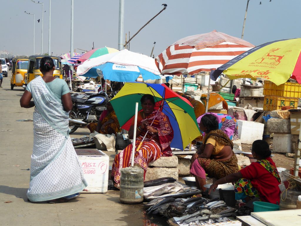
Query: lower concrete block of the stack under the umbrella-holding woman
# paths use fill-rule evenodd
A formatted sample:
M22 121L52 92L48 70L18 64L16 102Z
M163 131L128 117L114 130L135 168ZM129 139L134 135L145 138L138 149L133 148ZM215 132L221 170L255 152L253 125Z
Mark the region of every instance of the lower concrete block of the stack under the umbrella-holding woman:
M179 170L176 168L149 167L145 174L145 181L155 180L162 177L179 179Z

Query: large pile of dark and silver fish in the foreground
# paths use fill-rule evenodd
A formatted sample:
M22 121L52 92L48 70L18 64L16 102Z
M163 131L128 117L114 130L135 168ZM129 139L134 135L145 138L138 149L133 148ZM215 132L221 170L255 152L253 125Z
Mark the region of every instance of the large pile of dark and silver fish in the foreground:
M157 198L145 204L150 206L146 212L150 214L160 214L175 218L178 224L207 225L217 222L230 221L236 209L228 207L224 201L196 197L184 198Z

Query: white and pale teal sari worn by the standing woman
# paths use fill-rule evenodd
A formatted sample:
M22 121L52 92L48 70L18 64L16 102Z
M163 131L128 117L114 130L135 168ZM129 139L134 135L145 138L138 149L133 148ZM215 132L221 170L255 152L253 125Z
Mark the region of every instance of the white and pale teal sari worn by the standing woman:
M82 191L88 184L69 136L68 113L42 77L28 90L36 105L28 199L47 201Z

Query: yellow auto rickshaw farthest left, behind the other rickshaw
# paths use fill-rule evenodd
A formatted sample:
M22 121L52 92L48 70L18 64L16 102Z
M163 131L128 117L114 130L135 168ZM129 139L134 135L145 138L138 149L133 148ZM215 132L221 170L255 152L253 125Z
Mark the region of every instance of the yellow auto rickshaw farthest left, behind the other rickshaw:
M11 90L14 86L23 86L25 84L25 74L27 73L28 57L18 56L11 61Z

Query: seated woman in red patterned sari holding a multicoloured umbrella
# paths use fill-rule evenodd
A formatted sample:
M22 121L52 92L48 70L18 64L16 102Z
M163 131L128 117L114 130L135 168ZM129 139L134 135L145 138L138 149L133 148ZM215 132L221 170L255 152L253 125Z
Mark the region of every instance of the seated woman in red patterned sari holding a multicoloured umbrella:
M142 111L138 113L137 118L136 148L147 131L148 133L139 151L135 152L134 165L143 168L145 178L150 162L154 162L161 156L172 156L170 143L173 138L173 130L168 117L163 112L154 109L155 101L153 96L145 94L140 101ZM151 125L152 122L153 124ZM133 137L134 120L129 130L129 138L133 139ZM132 147L132 144L130 144L115 156L111 176L115 187L119 187L120 169L129 167L132 161Z

